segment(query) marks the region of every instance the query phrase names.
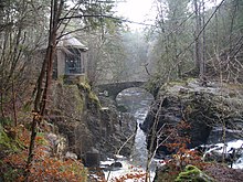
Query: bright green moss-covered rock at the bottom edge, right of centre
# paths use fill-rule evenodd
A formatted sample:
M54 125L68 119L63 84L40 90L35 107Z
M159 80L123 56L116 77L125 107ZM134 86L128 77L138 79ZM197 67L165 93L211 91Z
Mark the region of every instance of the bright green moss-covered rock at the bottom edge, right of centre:
M176 182L214 182L212 178L203 173L194 165L187 165L183 172L180 172Z

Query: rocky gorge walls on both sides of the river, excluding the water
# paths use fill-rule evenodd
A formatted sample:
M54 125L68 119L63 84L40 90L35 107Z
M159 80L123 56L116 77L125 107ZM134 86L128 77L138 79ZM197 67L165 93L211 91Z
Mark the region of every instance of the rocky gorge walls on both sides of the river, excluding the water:
M114 154L133 154L137 125L133 114L126 111L126 107L131 105L117 107L115 100L103 95L97 97L85 84L56 84L53 90L54 101L49 110L49 120L65 136L65 152L76 153L84 162L88 153L98 153L102 160ZM65 99L62 99L64 96ZM186 143L187 148L196 148L241 139L242 120L239 85L209 83L201 86L198 79L188 79L163 84L145 121L139 125L147 135L148 150L154 150L156 143L166 140L156 154L163 159L177 151L171 150L168 143ZM181 121L187 126L180 127ZM157 133L160 131L159 137L152 136L152 127ZM211 160L216 158L221 159L216 156Z

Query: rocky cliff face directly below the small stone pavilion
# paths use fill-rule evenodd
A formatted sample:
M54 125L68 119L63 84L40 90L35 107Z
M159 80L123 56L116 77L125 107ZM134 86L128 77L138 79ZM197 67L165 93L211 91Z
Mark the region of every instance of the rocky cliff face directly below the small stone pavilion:
M102 159L119 154L129 156L136 132L136 121L128 115L118 115L115 105L99 103L87 84L54 84L49 108L49 120L67 138L68 148L80 158L89 151L98 151ZM104 100L104 99L103 99Z

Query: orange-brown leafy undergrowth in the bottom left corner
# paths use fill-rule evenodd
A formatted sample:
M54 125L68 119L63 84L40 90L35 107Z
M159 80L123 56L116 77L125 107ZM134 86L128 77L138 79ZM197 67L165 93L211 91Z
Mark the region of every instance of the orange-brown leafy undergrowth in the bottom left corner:
M30 143L30 131L23 126L12 128L17 132L15 143L21 148L12 150L0 159L0 176L3 181L24 181L24 172L28 159L28 146ZM4 131L2 131L4 132ZM36 182L85 182L87 171L82 161L72 159L59 159L50 156L50 143L44 135L35 139L34 159L30 167L28 181ZM6 143L4 143L6 144ZM6 144L8 146L8 144ZM11 146L9 146L11 148Z

